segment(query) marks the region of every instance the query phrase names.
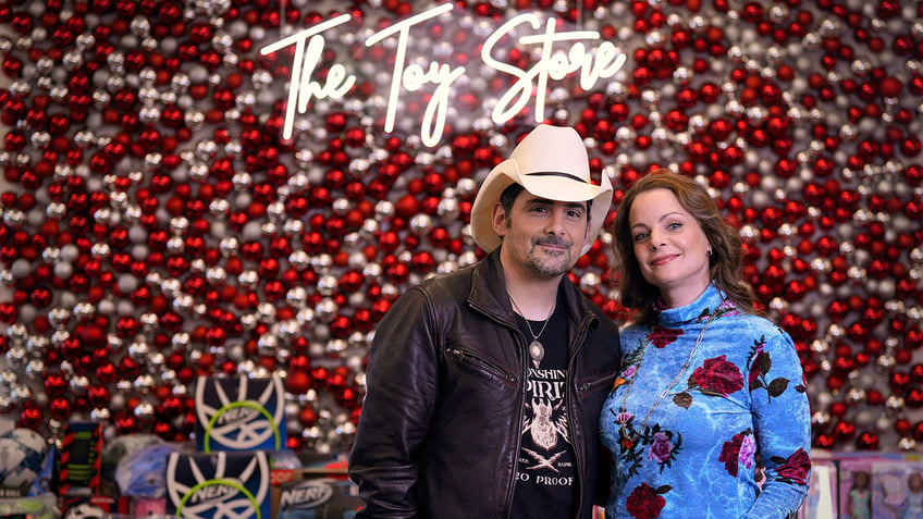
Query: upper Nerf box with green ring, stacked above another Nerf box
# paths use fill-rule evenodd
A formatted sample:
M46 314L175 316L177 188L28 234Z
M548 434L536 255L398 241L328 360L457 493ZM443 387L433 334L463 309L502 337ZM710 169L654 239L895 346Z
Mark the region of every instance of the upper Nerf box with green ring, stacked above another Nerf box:
M195 409L198 452L285 447L285 393L278 375L200 376Z

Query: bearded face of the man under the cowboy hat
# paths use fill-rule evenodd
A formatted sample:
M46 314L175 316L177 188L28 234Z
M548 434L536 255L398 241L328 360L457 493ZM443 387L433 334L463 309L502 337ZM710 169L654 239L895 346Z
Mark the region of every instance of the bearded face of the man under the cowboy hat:
M558 276L580 257L589 234L587 202L539 198L528 191L516 197L507 214L501 205L493 212L494 231L503 237L504 267L524 273Z

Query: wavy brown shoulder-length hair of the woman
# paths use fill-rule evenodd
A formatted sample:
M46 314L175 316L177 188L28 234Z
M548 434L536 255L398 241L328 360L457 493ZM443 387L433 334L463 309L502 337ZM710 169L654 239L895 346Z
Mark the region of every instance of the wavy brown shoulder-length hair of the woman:
M656 319L654 302L661 299L660 289L648 283L641 274L631 242L631 222L628 220L631 205L638 195L652 189L667 189L673 193L679 205L699 222L712 247L709 272L715 286L741 311L760 313L754 308L756 298L753 287L743 281L743 247L737 230L722 218L704 187L688 176L665 169L654 170L636 181L625 191L625 197L616 210L612 248L615 254L615 269L622 274L618 285L622 305L638 310L638 321L651 322Z

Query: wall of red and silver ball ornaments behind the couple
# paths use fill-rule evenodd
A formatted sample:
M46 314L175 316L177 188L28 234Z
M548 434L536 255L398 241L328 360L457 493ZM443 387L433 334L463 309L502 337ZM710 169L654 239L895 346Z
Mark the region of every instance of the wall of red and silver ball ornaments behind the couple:
M367 45L445 4L406 40ZM497 62L542 63L520 38L553 18L598 32L586 48L610 42L624 67L536 81L494 122L516 77L481 49L524 13L542 25L505 33ZM317 85L337 67L357 81L315 90L285 138L299 62L294 46L260 49L342 14L317 66L300 63ZM290 446L345 450L376 323L410 284L482 256L465 226L478 182L546 120L586 136L615 201L654 166L712 189L798 344L815 446L923 441L920 2L52 0L0 5L0 24L11 421L185 440L197 375L278 372ZM464 67L444 125L427 124L434 83L392 90L402 49L405 66ZM620 320L612 239L571 275Z

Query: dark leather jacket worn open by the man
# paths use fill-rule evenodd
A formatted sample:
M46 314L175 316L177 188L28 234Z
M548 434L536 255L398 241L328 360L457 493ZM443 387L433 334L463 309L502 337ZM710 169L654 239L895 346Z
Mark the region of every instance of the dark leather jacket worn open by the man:
M366 501L357 517L509 517L528 354L504 287L494 251L410 288L382 319L349 456ZM584 519L608 493L599 413L622 350L617 328L567 276L559 291L568 318L575 517Z

